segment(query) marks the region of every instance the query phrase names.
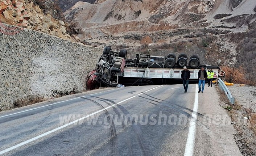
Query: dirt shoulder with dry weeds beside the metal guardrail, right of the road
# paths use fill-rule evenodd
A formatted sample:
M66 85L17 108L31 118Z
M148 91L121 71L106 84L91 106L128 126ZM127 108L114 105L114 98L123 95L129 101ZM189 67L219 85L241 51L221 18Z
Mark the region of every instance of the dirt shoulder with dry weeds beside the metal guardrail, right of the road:
M231 117L231 124L236 130L234 139L244 156L256 155L256 87L234 84L228 86L235 105L230 105L226 95L220 93L220 106L226 109ZM251 110L251 113L249 112Z

